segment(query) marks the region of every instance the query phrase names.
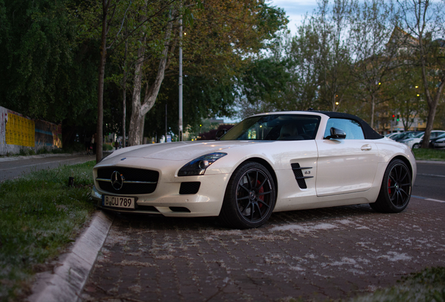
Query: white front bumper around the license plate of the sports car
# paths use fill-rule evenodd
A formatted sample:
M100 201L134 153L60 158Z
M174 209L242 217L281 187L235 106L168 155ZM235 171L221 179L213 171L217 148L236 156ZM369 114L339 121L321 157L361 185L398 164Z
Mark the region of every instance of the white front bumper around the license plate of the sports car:
M174 181L160 182L151 194L119 195L101 192L95 186L92 199L99 208L121 213L160 214L167 217L206 217L218 216L225 188L231 174L199 175L176 177ZM181 182L201 182L197 194L179 194ZM112 208L102 206L102 195L135 197L136 208Z

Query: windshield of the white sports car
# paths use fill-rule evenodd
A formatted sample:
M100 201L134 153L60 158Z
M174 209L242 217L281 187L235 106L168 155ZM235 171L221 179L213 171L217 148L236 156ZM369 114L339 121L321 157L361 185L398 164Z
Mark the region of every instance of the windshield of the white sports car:
M301 141L314 139L318 115L260 115L248 117L230 129L221 141Z

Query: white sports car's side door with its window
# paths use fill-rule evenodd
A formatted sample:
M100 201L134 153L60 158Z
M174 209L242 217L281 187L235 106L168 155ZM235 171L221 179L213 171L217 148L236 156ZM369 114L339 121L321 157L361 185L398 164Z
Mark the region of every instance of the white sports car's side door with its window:
M345 131L345 139L317 140L317 196L362 192L371 188L379 162L379 150L372 140L365 139L360 124L354 120L330 118L330 128Z

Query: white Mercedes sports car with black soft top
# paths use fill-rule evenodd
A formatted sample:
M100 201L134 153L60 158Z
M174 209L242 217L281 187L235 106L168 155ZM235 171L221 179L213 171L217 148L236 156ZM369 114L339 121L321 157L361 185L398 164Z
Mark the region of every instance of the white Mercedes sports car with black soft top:
M245 229L285 210L369 203L398 213L409 203L416 161L407 145L354 115L295 111L248 117L216 141L116 150L93 174L101 208L218 216Z

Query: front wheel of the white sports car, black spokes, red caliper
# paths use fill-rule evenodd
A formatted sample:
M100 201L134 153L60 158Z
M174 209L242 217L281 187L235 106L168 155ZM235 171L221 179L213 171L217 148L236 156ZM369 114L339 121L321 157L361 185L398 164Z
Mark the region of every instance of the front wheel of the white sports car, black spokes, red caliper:
M234 229L261 227L274 210L275 191L274 179L262 164L241 164L225 190L220 222Z

